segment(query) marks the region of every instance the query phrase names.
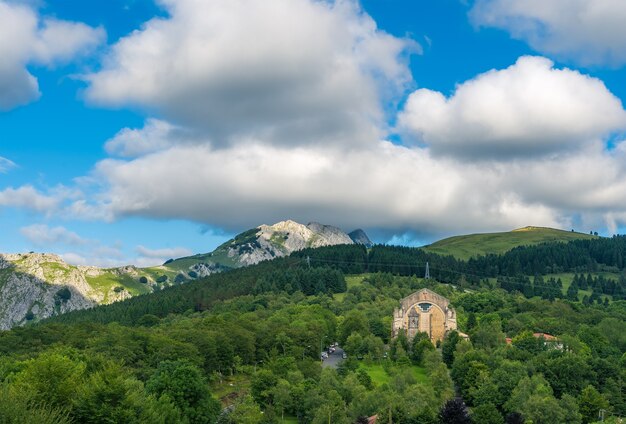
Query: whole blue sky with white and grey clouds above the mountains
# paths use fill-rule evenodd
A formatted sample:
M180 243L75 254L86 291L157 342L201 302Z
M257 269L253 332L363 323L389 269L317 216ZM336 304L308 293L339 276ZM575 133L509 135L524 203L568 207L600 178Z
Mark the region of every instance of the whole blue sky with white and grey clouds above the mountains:
M626 228L623 0L0 0L0 251Z

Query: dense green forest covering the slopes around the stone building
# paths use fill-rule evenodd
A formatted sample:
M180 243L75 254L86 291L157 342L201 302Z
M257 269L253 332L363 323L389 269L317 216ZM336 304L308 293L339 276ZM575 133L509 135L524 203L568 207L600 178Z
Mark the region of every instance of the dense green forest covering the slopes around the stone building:
M506 265L525 248L468 262L306 250L1 332L0 422L610 422L626 415L626 301L568 290L608 290L596 272L623 271L606 251L624 243L573 243L534 247L554 253L528 273ZM436 279L415 276L426 262ZM543 279L555 267L575 272L567 290ZM469 341L390 339L398 301L424 287L452 301ZM335 341L348 359L322 367Z

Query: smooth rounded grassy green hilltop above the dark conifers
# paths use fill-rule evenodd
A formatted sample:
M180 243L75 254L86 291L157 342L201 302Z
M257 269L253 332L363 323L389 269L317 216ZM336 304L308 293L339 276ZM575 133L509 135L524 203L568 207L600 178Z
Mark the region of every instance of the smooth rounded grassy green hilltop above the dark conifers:
M424 250L440 255L452 255L467 260L488 253L505 253L518 246L531 246L545 242L568 242L578 239L598 238L590 234L556 230L545 227L524 227L502 233L469 234L440 240Z

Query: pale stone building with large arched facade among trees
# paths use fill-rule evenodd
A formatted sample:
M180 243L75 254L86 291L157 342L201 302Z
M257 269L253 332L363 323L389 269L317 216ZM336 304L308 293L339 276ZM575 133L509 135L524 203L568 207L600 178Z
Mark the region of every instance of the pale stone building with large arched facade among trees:
M437 293L422 289L400 301L393 311L392 336L404 330L409 339L419 332L427 333L433 343L443 340L448 331L456 330L456 312L450 301Z

